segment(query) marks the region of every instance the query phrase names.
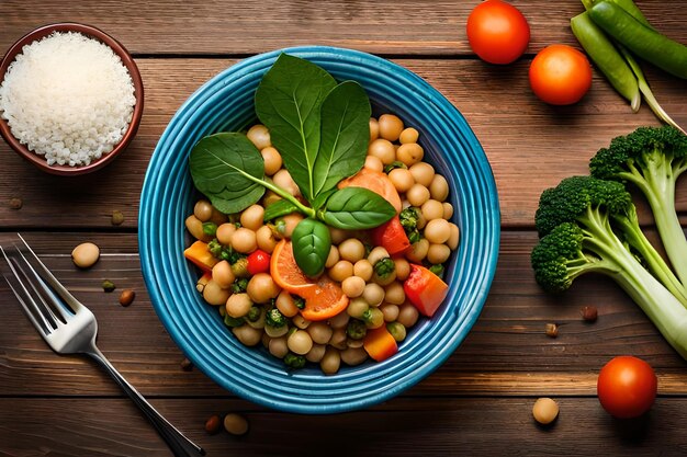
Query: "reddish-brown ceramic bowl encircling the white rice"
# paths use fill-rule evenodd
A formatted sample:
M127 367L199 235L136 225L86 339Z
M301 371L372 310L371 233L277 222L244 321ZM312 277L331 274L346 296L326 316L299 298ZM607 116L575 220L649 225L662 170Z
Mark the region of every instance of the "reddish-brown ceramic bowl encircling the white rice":
M140 116L143 115L143 81L140 79L140 73L138 72L138 67L136 67L134 59L124 48L124 46L122 46L116 39L105 34L101 30L92 27L90 25L78 23L58 23L38 27L21 37L16 43L12 45L12 47L10 47L10 49L4 55L4 58L0 62L0 82L4 79L4 73L7 72L10 64L14 60L18 54L21 54L22 48L25 45L41 39L53 32L79 32L83 35L104 43L105 45L110 46L117 56L120 56L122 62L124 64L124 66L128 70L128 73L132 77L132 81L134 83L134 94L136 96L136 105L134 106L132 122L129 123L126 133L124 134L122 140L114 147L112 151L102 156L100 159L91 161L88 165L77 167L59 164L48 165L44 156L38 156L37 153L29 150L26 146L19 142L19 140L14 138L14 136L12 136L10 126L2 117L0 117L0 135L2 135L4 140L10 145L10 147L12 147L12 149L16 151L16 153L19 153L21 157L29 160L31 163L38 167L43 171L59 175L76 175L89 173L111 162L124 149L126 149L131 140L136 135L136 130L138 130L138 124L140 123Z

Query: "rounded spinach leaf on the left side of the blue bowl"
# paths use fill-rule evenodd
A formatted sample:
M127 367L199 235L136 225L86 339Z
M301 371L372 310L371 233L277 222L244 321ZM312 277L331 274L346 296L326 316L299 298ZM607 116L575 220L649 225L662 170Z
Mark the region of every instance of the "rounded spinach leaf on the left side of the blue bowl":
M195 187L222 213L244 210L264 193L260 183L264 161L245 135L219 133L203 137L191 150L189 165Z

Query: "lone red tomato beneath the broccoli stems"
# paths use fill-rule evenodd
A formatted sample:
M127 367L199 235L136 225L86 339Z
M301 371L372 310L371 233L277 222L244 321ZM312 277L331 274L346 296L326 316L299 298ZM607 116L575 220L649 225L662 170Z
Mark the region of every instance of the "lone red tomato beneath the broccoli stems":
M596 388L601 405L611 415L637 418L656 399L656 374L641 358L622 355L601 368Z

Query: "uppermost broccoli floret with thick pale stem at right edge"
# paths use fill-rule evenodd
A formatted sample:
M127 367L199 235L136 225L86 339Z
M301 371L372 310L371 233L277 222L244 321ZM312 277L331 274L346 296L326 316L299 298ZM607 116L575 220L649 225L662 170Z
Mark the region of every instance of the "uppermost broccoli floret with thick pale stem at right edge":
M675 183L687 170L687 136L671 126L613 138L589 162L592 175L632 183L646 197L668 260L687 285L687 239L675 212Z

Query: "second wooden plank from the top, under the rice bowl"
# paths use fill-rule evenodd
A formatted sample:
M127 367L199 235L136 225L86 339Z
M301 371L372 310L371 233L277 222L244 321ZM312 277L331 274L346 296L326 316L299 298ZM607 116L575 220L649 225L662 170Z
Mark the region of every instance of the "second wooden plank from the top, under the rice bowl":
M144 174L155 145L181 103L204 81L236 60L139 59L146 107L132 146L104 170L65 179L46 175L0 142L0 220L4 228L111 229L112 212L122 227L137 226ZM531 227L539 195L562 178L587 173L589 158L610 138L641 125L657 125L646 106L632 114L608 83L595 76L577 105L539 102L527 80L528 61L508 68L475 60L397 60L441 91L465 116L489 159L498 187L504 227ZM687 125L687 92L676 78L649 71L656 96ZM676 206L687 212L687 180ZM10 207L19 197L23 207ZM69 205L65 205L69 202ZM650 221L645 210L642 219Z

